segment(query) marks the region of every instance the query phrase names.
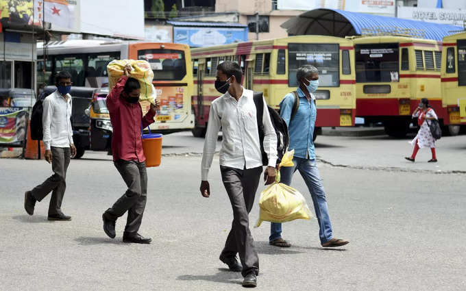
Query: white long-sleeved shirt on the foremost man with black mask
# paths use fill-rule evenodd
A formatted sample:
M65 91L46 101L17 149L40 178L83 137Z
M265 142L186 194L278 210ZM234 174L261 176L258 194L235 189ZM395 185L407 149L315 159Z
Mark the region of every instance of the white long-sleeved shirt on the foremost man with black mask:
M269 166L277 162L277 135L264 100L264 150L269 157ZM230 168L257 168L262 166L256 105L252 90L243 88L243 95L236 101L226 92L212 101L207 124L204 154L202 155L201 180L207 181L212 165L215 145L222 129L223 140L220 150L220 165Z

